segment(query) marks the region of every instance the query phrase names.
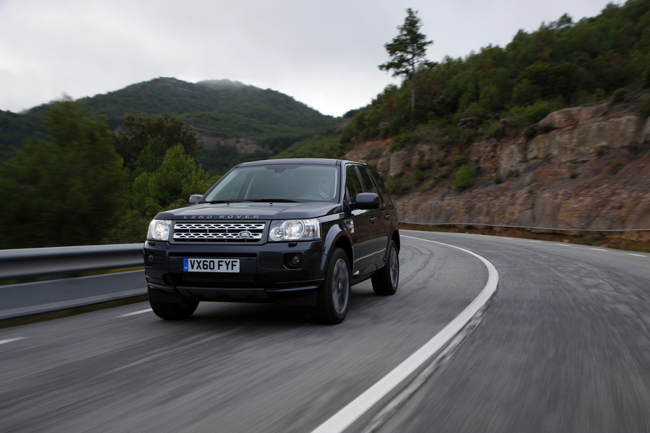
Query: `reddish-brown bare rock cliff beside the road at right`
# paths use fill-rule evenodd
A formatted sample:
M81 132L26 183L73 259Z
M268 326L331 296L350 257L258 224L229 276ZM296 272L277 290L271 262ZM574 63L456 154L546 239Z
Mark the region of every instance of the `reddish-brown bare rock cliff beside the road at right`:
M390 140L376 140L357 143L347 158L375 165L387 182L458 154L477 167L477 186L463 192L451 187L455 171L446 167L420 192L395 196L402 221L650 229L650 119L638 105L562 109L534 131L469 148L419 142L392 153Z

